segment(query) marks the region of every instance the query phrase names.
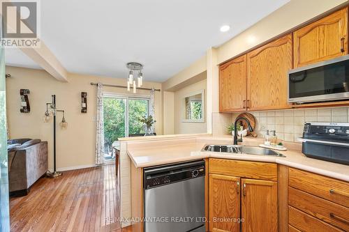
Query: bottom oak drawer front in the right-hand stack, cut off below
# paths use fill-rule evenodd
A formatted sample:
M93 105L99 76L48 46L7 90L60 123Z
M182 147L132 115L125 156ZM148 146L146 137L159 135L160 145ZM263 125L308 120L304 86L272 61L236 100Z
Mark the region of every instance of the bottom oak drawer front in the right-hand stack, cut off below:
M301 210L297 210L297 208L293 208L292 206L288 206L288 224L294 226L299 231L304 232L313 232L313 231L321 231L321 232L334 232L334 231L342 231L326 222L322 222L321 220L307 215L305 212Z

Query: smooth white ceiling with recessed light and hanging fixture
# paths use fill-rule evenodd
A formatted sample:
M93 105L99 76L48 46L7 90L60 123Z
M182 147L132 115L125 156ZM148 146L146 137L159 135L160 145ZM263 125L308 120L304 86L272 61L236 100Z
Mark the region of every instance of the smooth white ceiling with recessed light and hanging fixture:
M126 77L135 61L145 80L163 82L288 1L40 1L41 38L68 72ZM38 68L7 50L7 64Z

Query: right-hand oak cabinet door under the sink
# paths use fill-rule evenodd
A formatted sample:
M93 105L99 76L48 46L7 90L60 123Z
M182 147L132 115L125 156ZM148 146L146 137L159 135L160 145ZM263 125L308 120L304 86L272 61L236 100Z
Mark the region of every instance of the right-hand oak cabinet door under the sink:
M278 231L277 183L242 179L242 231Z

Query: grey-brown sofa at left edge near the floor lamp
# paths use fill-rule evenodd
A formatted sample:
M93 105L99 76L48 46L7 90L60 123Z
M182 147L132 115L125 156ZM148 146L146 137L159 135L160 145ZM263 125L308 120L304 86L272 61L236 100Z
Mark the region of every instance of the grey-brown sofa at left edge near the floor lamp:
M8 182L10 196L24 196L47 171L47 141L8 140Z

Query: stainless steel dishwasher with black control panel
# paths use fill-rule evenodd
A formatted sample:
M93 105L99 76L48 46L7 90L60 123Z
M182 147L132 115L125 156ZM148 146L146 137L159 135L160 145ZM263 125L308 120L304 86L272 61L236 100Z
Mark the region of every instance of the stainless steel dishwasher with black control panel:
M144 169L144 231L205 232L205 161Z

